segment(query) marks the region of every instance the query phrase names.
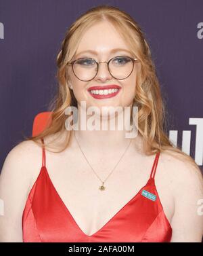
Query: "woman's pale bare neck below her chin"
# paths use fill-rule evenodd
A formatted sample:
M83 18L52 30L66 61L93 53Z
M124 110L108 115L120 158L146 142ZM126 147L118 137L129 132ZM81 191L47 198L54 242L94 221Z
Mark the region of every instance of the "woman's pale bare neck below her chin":
M84 113L82 113L82 115L83 114ZM90 130L89 127L90 124L92 124L92 122L90 122L92 116L85 116L86 125L85 128L83 125L83 129L81 129L81 111L78 111L78 130L74 130L78 143L80 143L84 149L96 149L98 153L103 153L104 155L109 155L110 152L115 155L115 153L120 152L120 149L127 147L130 142L131 144L140 143L141 136L133 134L131 124L125 124L122 125L121 128L118 128L120 115L123 115L122 111L114 117L94 116L94 124L100 123L99 130ZM110 130L110 122L114 124L114 130ZM102 130L102 127L106 127L106 130ZM127 134L131 134L131 136Z

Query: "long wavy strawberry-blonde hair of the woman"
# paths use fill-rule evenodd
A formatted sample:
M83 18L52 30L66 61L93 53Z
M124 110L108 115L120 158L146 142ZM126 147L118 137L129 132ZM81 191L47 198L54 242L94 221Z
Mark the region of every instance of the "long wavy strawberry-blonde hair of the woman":
M119 10L118 7L109 5L99 5L89 9L69 27L57 56L58 71L56 77L58 79L58 92L47 109L47 111L52 112L51 124L37 136L26 137L26 140L31 140L41 145L41 139L45 136L60 134L66 129L64 125L67 119L65 109L69 106L77 107L76 98L68 87L67 63L72 60L85 31L90 26L104 20L114 25L120 36L128 43L131 52L141 62L133 105L138 107L137 130L143 139L144 153L150 156L158 151L177 152L176 156L181 156L184 160L186 159L198 167L194 159L181 151L178 146L175 147L168 139L166 132L164 132L166 110L160 92L160 84L152 61L150 47L139 24L126 12ZM55 151L55 153L62 152L68 147L71 132L66 130L67 136L64 140L64 147L60 151Z

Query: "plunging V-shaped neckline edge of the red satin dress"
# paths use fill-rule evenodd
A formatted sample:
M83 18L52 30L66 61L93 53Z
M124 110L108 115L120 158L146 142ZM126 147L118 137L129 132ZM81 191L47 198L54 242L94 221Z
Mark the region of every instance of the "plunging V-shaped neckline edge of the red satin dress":
M55 191L55 194L58 196L58 198L60 199L60 202L62 202L62 206L64 207L65 211L68 213L68 215L70 215L70 217L72 218L72 221L74 222L74 225L76 225L76 227L78 228L78 230L80 230L80 232L83 234L83 236L87 236L89 238L92 238L93 236L96 236L97 234L99 234L102 230L104 230L106 228L106 226L110 223L110 221L113 221L116 216L124 209L126 208L133 200L135 200L135 198L137 198L137 196L139 195L141 189L143 189L144 187L146 187L146 185L148 185L148 183L150 182L150 180L152 180L153 178L150 177L147 181L147 183L145 183L145 185L143 185L143 187L141 187L141 189L139 189L139 191L137 192L137 194L135 194L135 196L133 196L133 198L131 198L126 204L124 204L124 206L122 206L120 208L120 210L118 210L102 227L99 228L99 230L97 230L96 232L94 232L91 235L85 234L85 232L83 232L83 230L81 229L81 227L78 225L78 223L76 223L76 220L74 219L74 217L72 216L72 214L70 213L70 211L68 210L68 207L66 206L66 204L64 204L64 201L62 200L62 198L60 197L60 194L58 194L58 191L55 189L55 186L53 185L53 182L51 181L51 178L49 177L49 172L47 171L47 167L46 166L42 166L42 168L45 168L47 177L49 179L49 182L51 183L51 186L53 187L53 190Z

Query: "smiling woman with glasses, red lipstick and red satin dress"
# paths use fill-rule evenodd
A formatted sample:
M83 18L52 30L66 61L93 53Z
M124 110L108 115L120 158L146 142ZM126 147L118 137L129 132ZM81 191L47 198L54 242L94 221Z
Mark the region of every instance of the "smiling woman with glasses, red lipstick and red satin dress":
M202 174L164 133L160 87L138 24L116 7L92 8L68 29L57 63L51 124L3 165L1 241L200 242ZM97 108L95 123L112 120L115 129L86 122L68 130L67 107L93 117L84 102ZM137 136L118 129L123 111L101 115L102 107L130 107L131 120L137 107Z

